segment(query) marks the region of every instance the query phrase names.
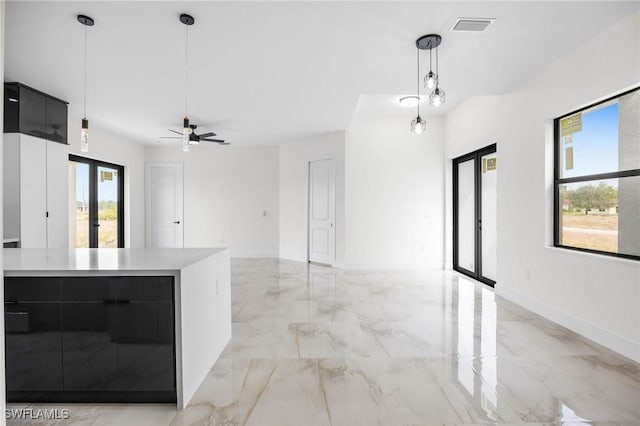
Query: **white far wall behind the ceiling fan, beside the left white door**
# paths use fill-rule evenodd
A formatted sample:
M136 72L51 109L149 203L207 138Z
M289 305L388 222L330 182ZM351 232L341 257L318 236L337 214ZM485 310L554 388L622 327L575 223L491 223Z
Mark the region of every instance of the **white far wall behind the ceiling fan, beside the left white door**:
M278 147L147 147L146 161L184 163L185 247L278 257Z

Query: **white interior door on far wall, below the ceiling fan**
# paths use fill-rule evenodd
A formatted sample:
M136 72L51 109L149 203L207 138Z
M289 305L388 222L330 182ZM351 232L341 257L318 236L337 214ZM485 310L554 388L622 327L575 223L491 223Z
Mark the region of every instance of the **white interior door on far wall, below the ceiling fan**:
M147 247L183 247L182 163L147 163Z

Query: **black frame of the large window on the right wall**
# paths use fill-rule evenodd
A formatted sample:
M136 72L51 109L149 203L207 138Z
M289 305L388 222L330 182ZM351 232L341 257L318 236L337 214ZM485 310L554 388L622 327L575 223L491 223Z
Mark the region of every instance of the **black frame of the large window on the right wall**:
M560 244L560 221L558 220L560 209L561 209L561 206L560 206L560 186L561 185L567 184L567 183L574 183L574 182L598 181L598 180L605 180L605 179L616 179L616 178L636 177L636 176L640 177L640 169L631 169L631 170L622 170L617 172L596 173L591 175L561 178L560 169L562 165L560 164L561 162L560 120L562 120L563 118L575 115L579 112L583 112L585 110L591 109L598 105L602 105L612 100L621 98L625 95L628 95L636 91L640 91L640 86L618 93L614 96L608 97L601 101L594 102L590 105L579 108L575 111L571 111L567 114L563 114L559 117L556 117L553 120L553 246L554 247L567 249L567 250L581 251L586 253L601 254L601 255L611 256L611 257L640 260L640 255L632 255L632 254L626 254L626 253L612 253L609 251L595 250L595 249L589 249L589 248L583 248L583 247L573 247L573 246L566 246L566 245ZM640 212L638 212L638 214L640 214Z

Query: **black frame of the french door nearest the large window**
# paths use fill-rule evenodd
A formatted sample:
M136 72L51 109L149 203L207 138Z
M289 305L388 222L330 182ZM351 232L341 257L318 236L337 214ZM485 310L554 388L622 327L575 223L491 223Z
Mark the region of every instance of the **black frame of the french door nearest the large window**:
M491 144L489 146L485 146L484 148L480 148L476 151L470 152L468 154L461 155L460 157L454 158L452 161L452 173L453 173L453 269L455 271L460 272L461 274L467 275L475 280L478 280L484 284L487 284L490 287L494 287L496 282L490 278L487 278L482 275L482 187L481 187L481 179L482 179L482 167L481 167L481 159L484 155L497 153L497 144ZM475 269L476 271L469 271L461 267L458 264L458 213L459 213L459 205L458 205L458 165L464 163L465 161L474 160L474 198L475 198L475 206L473 212L473 220L475 223L475 232L473 235L474 239L474 251L475 251Z

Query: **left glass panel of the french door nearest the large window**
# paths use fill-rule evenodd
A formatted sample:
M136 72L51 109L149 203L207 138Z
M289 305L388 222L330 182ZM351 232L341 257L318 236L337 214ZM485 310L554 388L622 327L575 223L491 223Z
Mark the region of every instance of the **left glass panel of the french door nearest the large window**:
M475 160L458 164L458 266L476 271Z

